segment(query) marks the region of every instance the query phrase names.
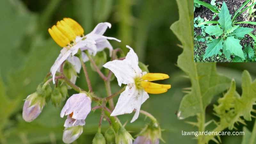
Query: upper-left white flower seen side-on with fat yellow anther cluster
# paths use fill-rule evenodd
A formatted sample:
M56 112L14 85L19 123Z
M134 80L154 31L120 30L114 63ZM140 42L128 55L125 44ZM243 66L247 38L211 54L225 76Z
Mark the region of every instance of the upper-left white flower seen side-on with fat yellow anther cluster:
M120 40L114 37L102 36L107 28L111 28L110 23L99 23L91 33L82 36L84 34L84 29L75 20L64 18L63 20L58 21L56 26L54 25L52 28L48 29L53 40L64 48L51 68L53 83L55 83L54 78L56 71L58 71L60 65L67 59L68 61L70 59L76 59L74 66L77 67L77 71L80 72L81 66L78 64L77 58L72 58L79 49L81 51L88 50L89 53L95 55L97 52L102 51L107 47L109 48L110 54L112 53L113 47L108 42L108 39L116 40L118 42L120 42ZM85 62L88 58L85 58L85 54L83 55L83 61Z

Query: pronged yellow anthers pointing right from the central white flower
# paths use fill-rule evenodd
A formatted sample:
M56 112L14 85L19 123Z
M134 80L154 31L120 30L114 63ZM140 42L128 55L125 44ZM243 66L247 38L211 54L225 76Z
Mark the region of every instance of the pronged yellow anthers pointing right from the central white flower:
M171 88L170 84L156 84L150 81L163 80L167 78L169 78L169 76L166 74L148 73L141 77L142 81L140 82L140 86L143 87L143 89L148 93L152 93L152 94L164 93Z

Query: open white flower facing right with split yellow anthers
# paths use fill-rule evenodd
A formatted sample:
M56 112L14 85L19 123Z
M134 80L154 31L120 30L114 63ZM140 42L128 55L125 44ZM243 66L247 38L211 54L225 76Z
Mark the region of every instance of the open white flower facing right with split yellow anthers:
M140 106L149 98L148 93L158 94L167 92L171 85L156 84L149 81L169 78L166 74L142 73L139 68L138 56L131 47L124 60L113 60L103 65L110 69L116 76L118 85L127 84L125 91L120 94L114 111L111 116L132 113L136 109L131 122L134 122L140 113Z

